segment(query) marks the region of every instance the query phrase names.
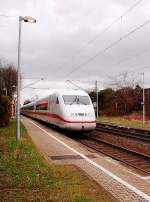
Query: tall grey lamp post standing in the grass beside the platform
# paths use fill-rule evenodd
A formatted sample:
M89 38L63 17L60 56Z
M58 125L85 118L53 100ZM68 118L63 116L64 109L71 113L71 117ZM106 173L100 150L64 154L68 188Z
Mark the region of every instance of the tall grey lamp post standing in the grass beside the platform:
M19 16L19 38L18 38L18 71L17 71L17 129L16 139L20 140L20 58L21 58L21 24L22 21L28 23L36 23L36 20L30 16Z

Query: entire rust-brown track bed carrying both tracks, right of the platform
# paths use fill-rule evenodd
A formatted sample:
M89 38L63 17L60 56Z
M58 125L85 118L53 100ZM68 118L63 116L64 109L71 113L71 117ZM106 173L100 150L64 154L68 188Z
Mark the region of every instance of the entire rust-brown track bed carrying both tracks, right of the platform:
M74 139L88 148L150 175L150 131L97 124L94 132Z

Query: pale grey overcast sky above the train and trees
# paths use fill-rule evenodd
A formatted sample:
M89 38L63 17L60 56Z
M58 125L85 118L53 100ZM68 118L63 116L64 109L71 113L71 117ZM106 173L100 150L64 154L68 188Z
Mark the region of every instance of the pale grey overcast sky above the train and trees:
M32 87L52 89L70 85L72 88L73 85L65 82L71 80L81 87L92 88L94 80L98 80L99 88L103 88L109 85L110 77L117 78L123 71L132 71L139 81L142 79L140 73L145 72L145 86L150 87L149 0L0 2L0 58L3 63L13 63L17 67L18 16L32 16L37 20L36 24L22 23L23 86L44 78ZM116 23L106 31L114 20ZM145 22L147 25L103 51ZM97 57L92 58L95 55ZM22 100L49 92L25 88Z

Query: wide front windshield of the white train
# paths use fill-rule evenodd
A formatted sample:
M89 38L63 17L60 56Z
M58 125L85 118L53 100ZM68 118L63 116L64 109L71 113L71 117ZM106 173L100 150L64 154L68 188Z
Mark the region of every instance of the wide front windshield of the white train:
M88 96L82 95L63 95L65 105L90 105L90 99Z

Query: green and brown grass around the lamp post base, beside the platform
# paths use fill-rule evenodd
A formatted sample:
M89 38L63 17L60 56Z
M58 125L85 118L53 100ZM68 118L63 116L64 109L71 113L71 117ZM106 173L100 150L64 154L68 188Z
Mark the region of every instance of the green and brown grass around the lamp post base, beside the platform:
M74 166L49 165L21 125L0 128L0 201L114 202L105 190Z

